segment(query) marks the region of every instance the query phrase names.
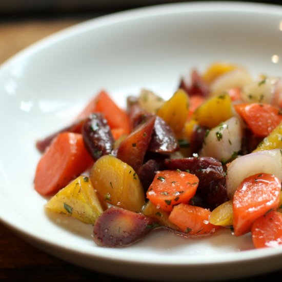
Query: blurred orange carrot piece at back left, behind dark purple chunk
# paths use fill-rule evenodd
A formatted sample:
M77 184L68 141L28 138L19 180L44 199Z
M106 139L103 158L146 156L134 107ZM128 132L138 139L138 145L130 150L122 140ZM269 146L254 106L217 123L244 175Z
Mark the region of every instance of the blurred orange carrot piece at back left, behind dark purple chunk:
M102 112L111 129L123 128L125 133L130 132L130 122L127 113L119 108L108 93L100 91L78 115L77 119L88 117L91 113Z

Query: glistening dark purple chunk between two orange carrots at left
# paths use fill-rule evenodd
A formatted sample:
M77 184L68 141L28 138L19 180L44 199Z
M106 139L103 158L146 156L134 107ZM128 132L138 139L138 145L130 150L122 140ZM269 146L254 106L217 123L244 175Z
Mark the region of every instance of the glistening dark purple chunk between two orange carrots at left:
M102 113L91 114L85 120L82 135L85 148L94 160L111 153L114 138Z

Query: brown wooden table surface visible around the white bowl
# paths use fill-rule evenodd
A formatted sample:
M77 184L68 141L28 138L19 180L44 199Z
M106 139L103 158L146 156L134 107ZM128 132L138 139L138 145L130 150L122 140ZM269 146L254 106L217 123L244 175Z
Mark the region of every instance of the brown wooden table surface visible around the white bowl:
M0 22L0 64L38 39L82 22L87 18L88 16ZM113 279L121 280L117 277L73 266L44 253L26 243L0 223L0 280L26 279L37 281L43 277L50 281L95 280L103 282L112 281ZM189 279L189 273L187 273L187 277ZM264 281L278 280L281 277L282 270L259 276ZM257 279L258 277L250 277L239 281L254 282ZM122 280L125 282L130 281L129 279Z

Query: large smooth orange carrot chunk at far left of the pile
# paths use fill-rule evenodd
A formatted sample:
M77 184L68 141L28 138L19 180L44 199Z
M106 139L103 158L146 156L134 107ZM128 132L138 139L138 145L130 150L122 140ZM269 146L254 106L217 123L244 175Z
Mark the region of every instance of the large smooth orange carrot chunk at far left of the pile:
M35 190L41 195L55 193L83 173L91 162L82 134L59 133L39 159L34 178Z

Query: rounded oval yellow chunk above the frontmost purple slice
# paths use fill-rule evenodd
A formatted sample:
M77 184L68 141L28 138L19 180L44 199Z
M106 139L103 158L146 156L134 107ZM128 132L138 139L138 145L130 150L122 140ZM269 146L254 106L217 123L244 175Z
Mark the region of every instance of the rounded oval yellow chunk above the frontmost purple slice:
M140 212L145 194L138 175L122 160L104 155L93 165L90 179L97 193L113 206Z

